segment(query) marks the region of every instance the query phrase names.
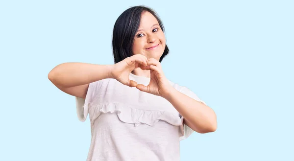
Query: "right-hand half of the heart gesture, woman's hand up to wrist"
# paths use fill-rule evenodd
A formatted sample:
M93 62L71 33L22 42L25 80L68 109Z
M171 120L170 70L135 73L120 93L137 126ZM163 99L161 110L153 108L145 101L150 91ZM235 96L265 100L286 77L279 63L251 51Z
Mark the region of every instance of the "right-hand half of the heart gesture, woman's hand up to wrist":
M150 70L150 83L147 86L138 84L136 88L140 91L159 95L162 97L168 95L172 89L172 85L165 77L161 69L160 62L154 58L149 58L147 64L148 66L146 66L145 69Z

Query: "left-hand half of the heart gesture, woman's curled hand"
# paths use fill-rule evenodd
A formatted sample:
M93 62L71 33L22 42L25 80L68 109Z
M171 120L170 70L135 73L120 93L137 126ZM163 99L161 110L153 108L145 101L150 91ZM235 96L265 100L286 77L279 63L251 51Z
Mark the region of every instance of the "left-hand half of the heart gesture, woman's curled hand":
M129 80L129 75L136 68L145 69L144 67L147 66L147 62L147 57L142 54L135 54L133 56L127 57L112 66L112 78L118 80L126 86L136 87L137 82Z

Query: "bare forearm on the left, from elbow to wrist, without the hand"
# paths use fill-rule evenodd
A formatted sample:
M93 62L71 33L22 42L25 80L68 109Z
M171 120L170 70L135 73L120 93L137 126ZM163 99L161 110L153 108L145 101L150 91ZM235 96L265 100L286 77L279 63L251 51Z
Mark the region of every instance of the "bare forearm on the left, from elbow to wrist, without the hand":
M49 80L62 87L74 87L111 77L112 65L63 63L53 68Z

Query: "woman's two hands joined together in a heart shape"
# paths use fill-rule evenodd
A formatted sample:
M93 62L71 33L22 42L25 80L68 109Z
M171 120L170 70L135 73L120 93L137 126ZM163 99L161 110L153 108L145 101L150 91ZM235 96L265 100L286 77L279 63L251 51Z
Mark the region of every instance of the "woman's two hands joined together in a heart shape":
M129 79L130 73L136 68L150 70L149 85L144 86L142 84L137 84L137 82ZM169 94L172 88L161 69L160 62L154 58L147 59L147 57L142 54L135 54L125 58L123 61L114 64L110 71L114 79L126 86L136 87L143 92L164 96Z

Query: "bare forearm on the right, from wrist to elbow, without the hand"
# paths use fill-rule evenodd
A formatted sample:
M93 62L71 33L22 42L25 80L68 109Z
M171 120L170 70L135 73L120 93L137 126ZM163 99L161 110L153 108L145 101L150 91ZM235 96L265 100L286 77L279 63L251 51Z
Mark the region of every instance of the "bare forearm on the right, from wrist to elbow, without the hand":
M192 129L200 132L213 132L217 128L215 112L205 104L178 92L172 88L165 98L192 125Z

